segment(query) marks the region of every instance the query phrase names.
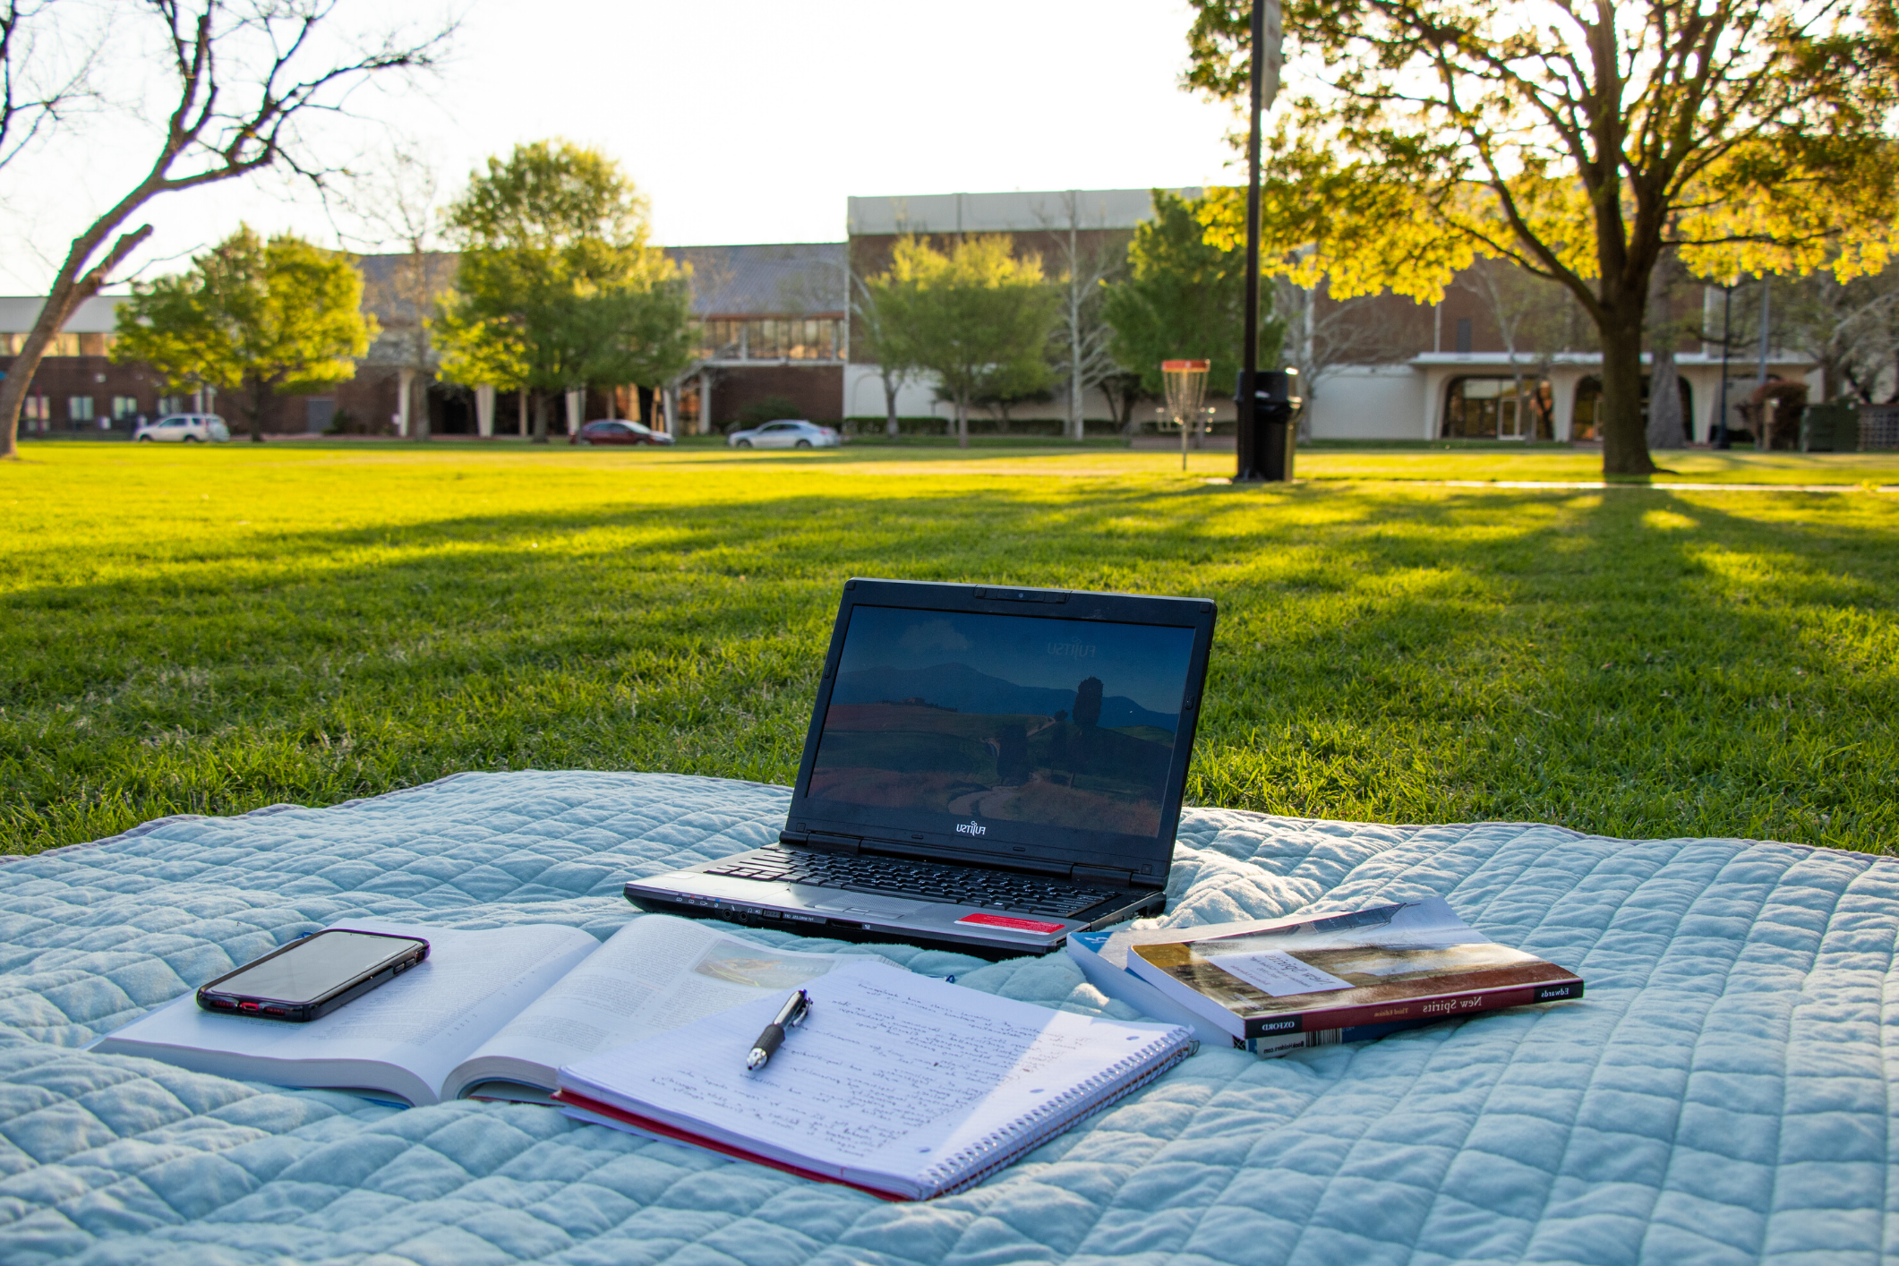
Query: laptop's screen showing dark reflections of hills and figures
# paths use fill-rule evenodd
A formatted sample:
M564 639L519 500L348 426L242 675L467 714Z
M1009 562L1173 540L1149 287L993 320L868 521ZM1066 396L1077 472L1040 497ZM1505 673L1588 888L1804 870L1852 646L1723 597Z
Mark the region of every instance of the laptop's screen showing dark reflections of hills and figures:
M858 605L807 795L1153 837L1193 628ZM967 826L965 826L967 820Z

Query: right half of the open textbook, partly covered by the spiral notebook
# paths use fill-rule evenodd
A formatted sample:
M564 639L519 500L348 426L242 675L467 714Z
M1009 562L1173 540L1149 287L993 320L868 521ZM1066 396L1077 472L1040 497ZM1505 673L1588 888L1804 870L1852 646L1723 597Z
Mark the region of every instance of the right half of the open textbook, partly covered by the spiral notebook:
M864 960L887 962L771 949L691 919L642 915L488 1038L448 1078L442 1097L490 1080L553 1089L560 1065L752 998L779 998L843 962Z

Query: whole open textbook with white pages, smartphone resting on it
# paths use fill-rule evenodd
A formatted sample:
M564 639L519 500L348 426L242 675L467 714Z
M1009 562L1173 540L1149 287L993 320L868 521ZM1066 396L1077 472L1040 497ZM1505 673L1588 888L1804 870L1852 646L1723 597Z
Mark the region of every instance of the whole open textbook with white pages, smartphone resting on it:
M336 926L420 936L429 957L308 1025L216 1015L188 993L93 1050L404 1103L549 1103L564 1063L780 996L868 957L767 949L668 915L634 919L606 943L558 924L460 932L348 919Z

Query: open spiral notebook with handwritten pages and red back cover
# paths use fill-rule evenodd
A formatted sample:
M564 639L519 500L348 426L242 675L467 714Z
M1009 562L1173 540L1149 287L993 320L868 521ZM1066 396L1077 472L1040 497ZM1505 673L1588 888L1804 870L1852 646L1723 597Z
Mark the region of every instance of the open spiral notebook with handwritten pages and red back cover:
M805 985L809 1019L758 1072L782 1002L708 1015L560 1069L570 1116L894 1200L963 1190L1194 1050L1177 1025L1054 1012L877 962Z

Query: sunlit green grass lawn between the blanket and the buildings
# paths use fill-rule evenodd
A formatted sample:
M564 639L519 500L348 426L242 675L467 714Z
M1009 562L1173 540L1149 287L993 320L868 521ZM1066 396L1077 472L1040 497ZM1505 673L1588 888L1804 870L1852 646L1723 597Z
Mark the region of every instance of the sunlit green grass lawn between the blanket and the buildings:
M1231 461L30 442L0 465L0 850L460 769L784 782L849 575L1219 600L1191 803L1899 843L1899 497L1417 482L1593 476L1561 450L1210 484Z

